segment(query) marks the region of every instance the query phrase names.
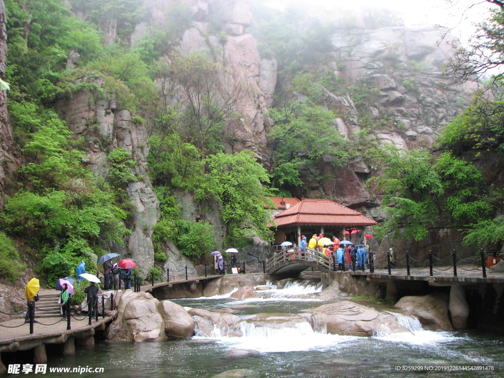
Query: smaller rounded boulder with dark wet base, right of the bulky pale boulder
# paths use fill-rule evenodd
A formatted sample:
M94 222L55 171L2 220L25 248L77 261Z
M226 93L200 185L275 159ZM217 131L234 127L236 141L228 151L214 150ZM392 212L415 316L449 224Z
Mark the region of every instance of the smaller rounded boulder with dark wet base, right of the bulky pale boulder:
M194 336L194 320L181 305L163 300L159 302L158 308L164 320L167 337L186 339Z

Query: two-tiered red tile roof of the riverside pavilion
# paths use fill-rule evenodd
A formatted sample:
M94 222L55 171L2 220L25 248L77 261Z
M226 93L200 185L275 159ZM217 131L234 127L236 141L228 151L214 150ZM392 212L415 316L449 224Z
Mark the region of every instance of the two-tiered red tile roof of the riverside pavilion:
M377 222L366 218L358 211L349 209L331 200L303 199L290 209L277 214L273 221L278 226L292 224L374 226Z

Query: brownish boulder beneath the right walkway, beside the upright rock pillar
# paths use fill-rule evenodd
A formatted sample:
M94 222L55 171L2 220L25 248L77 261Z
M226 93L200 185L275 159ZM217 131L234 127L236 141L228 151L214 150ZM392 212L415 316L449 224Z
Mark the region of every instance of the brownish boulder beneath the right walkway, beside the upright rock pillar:
M431 293L423 296L402 297L395 307L417 317L424 329L430 331L453 331L448 318L448 294Z

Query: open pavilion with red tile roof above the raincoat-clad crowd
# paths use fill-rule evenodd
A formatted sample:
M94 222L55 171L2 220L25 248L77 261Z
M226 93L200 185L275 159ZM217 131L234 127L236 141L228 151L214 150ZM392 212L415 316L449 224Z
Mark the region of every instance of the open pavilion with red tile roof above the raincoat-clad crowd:
M324 233L324 236L332 238L341 235L348 228L357 227L361 229L357 238L362 240L364 239L362 237L364 227L377 224L358 211L337 204L332 200L306 198L298 200L293 206L276 214L273 217L273 222L277 226L275 242L292 239L289 241L297 240L298 245L301 242L302 234L306 235L307 240L314 233Z

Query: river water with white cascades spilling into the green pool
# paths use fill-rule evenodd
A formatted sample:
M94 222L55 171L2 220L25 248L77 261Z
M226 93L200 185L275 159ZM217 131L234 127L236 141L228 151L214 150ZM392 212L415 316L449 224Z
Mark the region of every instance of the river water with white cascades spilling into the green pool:
M210 336L197 330L199 336L189 340L101 342L94 348L77 349L74 356L50 357L47 366L104 367L104 373L83 373L80 376L107 378L210 378L233 369L248 369L256 372L257 377L271 378L504 376L504 335L424 331L415 318L399 314L396 317L414 333L414 337L386 334L338 336L325 334L323 330L314 332L306 323L268 328L250 321L256 313L265 312L283 321L305 309L328 303L317 298L320 291L320 287L295 282L282 290L266 290L259 297L245 300L232 300L229 295L174 300L182 306L204 309L237 308L244 336L223 337L216 328ZM373 307L372 303L364 304ZM379 309L383 310L382 307ZM228 357L231 348L255 353ZM431 364L430 369L451 371L397 371L396 365L405 364ZM473 370L481 368L477 366L487 366L485 369L493 368L493 371ZM46 376L68 378L77 374L47 373Z

